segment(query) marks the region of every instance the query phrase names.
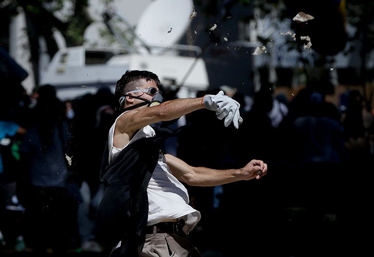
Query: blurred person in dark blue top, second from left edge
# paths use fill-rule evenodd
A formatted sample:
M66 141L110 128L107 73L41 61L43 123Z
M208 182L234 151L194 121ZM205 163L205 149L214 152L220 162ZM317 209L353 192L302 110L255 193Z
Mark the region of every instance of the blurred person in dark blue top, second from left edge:
M68 163L66 110L52 85L40 86L37 93L32 124L21 144L25 242L34 252L64 252L78 246L81 201Z

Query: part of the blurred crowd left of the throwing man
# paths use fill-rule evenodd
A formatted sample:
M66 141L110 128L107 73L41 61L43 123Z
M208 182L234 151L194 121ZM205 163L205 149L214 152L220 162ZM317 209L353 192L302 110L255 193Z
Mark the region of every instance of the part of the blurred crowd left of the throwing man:
M114 95L61 101L52 85L30 96L22 85L2 87L1 220L4 249L101 252L95 209L99 169Z

